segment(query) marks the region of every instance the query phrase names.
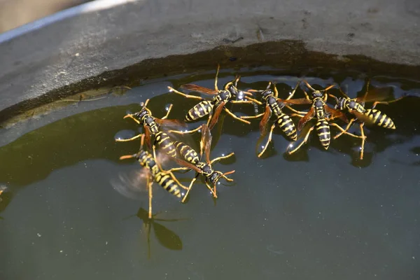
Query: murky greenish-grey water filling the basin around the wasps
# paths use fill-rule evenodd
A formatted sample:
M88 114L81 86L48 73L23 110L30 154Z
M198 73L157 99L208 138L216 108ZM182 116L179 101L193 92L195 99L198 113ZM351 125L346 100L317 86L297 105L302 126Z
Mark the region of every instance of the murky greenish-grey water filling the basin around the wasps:
M277 80L281 97L297 81L275 69L240 73L240 88ZM318 88L335 81L352 97L362 94L360 73L312 76ZM219 86L233 77L222 71ZM113 190L118 174L140 168L118 160L139 148L138 141L114 141L138 131L123 120L126 112L153 97L155 116L174 104L170 118L183 118L197 102L168 93L167 85L212 87L213 78L214 71L151 80L1 130L0 279L419 279L418 97L378 106L397 130L366 130L364 160L360 141L345 135L324 151L313 134L302 151L284 155L288 141L279 130L259 160L258 121L221 117L211 158L235 152L214 166L235 169L235 184L218 186L216 202L197 184L186 204L155 186L153 212L171 221L147 223L146 193L135 200ZM391 86L395 97L420 89L401 78L377 77L372 85ZM232 111L255 113L253 106Z

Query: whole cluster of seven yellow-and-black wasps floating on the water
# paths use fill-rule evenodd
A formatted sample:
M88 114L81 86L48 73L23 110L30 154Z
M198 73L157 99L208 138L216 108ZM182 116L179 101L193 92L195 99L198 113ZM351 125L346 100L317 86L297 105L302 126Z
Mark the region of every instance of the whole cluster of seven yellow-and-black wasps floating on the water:
M219 90L217 85L218 71L219 67L216 71L214 90L193 84L181 85L183 90L209 94L213 96L212 99L204 99L202 97L186 94L175 90L172 87L168 87L170 92L175 92L176 94L180 94L183 97L197 99L199 101L198 104L193 106L193 108L188 111L185 121L191 122L206 116L208 120L207 123L200 125L194 130L163 130L162 127L166 127L168 125L179 127L185 126L185 123L179 120L170 120L167 118L172 109L172 105L169 106L166 116L163 118L154 117L150 109L147 108L148 100L144 104L141 104L141 111L137 113L130 113L124 117L131 118L136 123L144 127L144 133L130 139L117 139L116 141L132 141L134 139L141 139L141 148L138 153L134 155L123 155L120 159L123 160L127 158L136 158L140 162L141 166L144 167L142 169L142 176L147 180L149 193L149 218L152 218L151 205L153 195L151 185L153 182L158 183L169 193L181 199L182 202L185 202L186 198L188 197L188 193L190 192L193 184L197 180L198 176L200 176L200 174L204 176L206 186L209 188L215 198L217 197L216 184L218 183L219 179L223 178L227 181L233 181L232 179L228 178L227 175L234 173L235 170L227 173L218 172L213 169L213 164L219 160L230 158L232 155L234 155L234 153L210 160L211 130L218 122L218 118L222 111L225 111L229 116L232 116L232 118L235 118L236 120L246 124L250 124L248 121L249 119L261 118L260 139L264 139L266 137L268 132L267 124L269 119L272 115L275 116L274 123L269 128L267 143L262 146L263 149L260 153L258 153L258 158L260 158L267 150L267 146L269 146L269 142L272 140L272 133L274 128L279 127L286 135L286 137L290 139L290 141L297 141L297 132L302 131L304 125L313 118L316 118L316 123L311 125L305 133L302 133L300 139L303 140L300 141L300 144L296 146L290 144L288 146L287 153L295 153L295 151L307 143L309 135L314 129L316 130L316 134L318 135L318 139L321 142L323 148L328 149L331 141L330 126L333 126L337 127L337 129L341 131L339 134L335 135L333 139L337 139L342 134L347 134L351 137L361 139L360 159L363 159L363 149L366 140L366 136L363 130L365 123L378 125L380 127L392 130L395 129L395 125L391 118L386 116L381 111L374 109L377 104L388 104L390 102L379 101L379 98L381 97L379 97L378 94L369 94L369 96L367 96L367 92L369 92L369 82L367 82L367 89L363 97L351 99L344 92L342 92L341 89L339 89L339 91L341 92L342 97L337 98L335 95L328 94L328 90L330 90L332 87L335 87L335 85L330 85L323 90L315 90L311 85L309 85L309 83L307 83L306 80L302 80L297 83L296 87L293 89L293 92L290 92L286 99L280 99L279 92L276 89L275 83L268 83L265 90L239 90L237 88L237 83L239 82L240 78L239 76L237 76L231 82L227 83L223 87L223 90ZM307 86L307 89L311 90L311 94L307 94L307 92L303 90L304 98L293 99L293 96L297 88L300 87L301 83L304 83L304 85ZM258 95L260 95L261 101L256 99ZM328 97L335 99L335 109L332 109L330 106L328 106ZM395 99L391 102L395 102L397 100L398 99ZM370 109L365 109L365 102L374 103ZM260 106L265 106L265 111L256 116L237 117L228 108L226 108L228 103L258 104ZM311 107L309 111L297 111L296 109L292 108L293 105L310 105ZM285 108L288 110L287 113L283 112L283 109ZM348 116L351 117L350 120ZM295 123L293 123L292 117L297 117L300 119L297 123L297 127L295 126ZM334 119L342 120L344 123L346 123L346 126L342 128L336 123L332 123L332 120ZM358 123L360 126L360 135L349 132L351 125L354 123ZM202 134L200 139L200 153L197 153L197 151L182 141L174 141L172 137L173 134L190 134L194 132L201 132ZM156 147L158 147L160 150L158 156L156 155L155 151ZM203 153L205 154L205 160L202 160ZM176 162L176 164L180 165L181 167L168 170L162 169L160 163L165 158L174 160L174 162ZM176 179L176 176L174 176L173 172L179 172L180 170L194 170L196 172L196 176L190 182L188 187L183 186L179 180Z

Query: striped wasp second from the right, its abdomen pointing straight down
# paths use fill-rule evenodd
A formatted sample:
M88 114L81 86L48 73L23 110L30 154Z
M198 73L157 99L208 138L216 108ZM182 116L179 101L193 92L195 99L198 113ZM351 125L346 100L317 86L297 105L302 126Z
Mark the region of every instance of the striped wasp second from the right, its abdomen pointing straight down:
M330 85L329 87L326 87L324 90L315 90L313 87L311 87L311 85L309 85L309 83L306 80L303 80L303 82L307 85L307 87L309 87L310 90L312 90L312 93L311 93L312 99L310 99L307 92L304 91L305 98L289 99L289 100L281 99L281 102L284 102L286 104L311 104L311 109L309 109L308 112L296 111L295 109L292 109L290 108L290 106L288 106L288 108L291 111L296 113L295 116L300 116L300 121L297 124L297 130L299 131L302 130L304 125L315 116L316 116L316 123L315 125L312 125L309 128L309 130L306 132L306 135L304 136L304 140L299 145L297 145L295 148L293 148L292 145L288 146L289 154L295 153L295 151L297 151L303 144L305 144L307 140L309 139L309 135L311 134L311 131L314 129L316 129L316 133L318 134L319 141L321 142L321 145L323 146L323 148L325 148L325 150L328 149L328 147L330 146L330 141L331 141L330 125L333 125L339 128L339 130L344 131L342 127L340 127L336 123L331 123L330 120L334 118L341 118L342 120L344 120L344 122L348 123L348 120L346 116L344 115L344 113L337 111L335 109L332 109L326 104L327 99L328 99L328 94L326 94L326 92L330 90L332 87L334 87L335 85ZM349 134L349 132L344 132L344 133ZM293 148L293 149L289 150L290 148Z

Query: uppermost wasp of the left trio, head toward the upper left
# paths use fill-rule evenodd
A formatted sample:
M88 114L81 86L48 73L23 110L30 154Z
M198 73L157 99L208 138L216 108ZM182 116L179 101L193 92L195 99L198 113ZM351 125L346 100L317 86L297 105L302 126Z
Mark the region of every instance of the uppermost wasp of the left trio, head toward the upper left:
M146 145L148 146L148 148L151 147L151 136L154 136L155 143L158 143L158 146L162 148L162 151L164 151L172 157L176 157L176 149L174 146L174 142L166 132L160 130L160 126L185 126L185 123L182 123L179 120L167 119L169 113L172 110L172 104L169 106L167 114L163 118L155 118L152 115L151 111L147 108L148 102L149 99L147 99L145 103L140 104L143 108L139 112L128 114L124 118L132 118L136 123L144 126L144 134L146 136ZM130 139L116 139L116 141L132 141L138 139L141 136L142 134L139 134Z

